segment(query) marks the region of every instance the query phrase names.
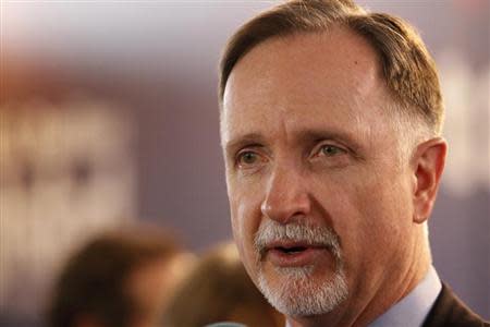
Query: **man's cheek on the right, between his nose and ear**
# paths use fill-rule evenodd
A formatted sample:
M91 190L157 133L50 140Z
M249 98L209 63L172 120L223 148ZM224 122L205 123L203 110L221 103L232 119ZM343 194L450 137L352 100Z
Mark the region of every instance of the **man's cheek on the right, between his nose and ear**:
M371 261L404 237L411 223L408 189L400 175L375 169L329 177L319 202L341 238L346 261Z

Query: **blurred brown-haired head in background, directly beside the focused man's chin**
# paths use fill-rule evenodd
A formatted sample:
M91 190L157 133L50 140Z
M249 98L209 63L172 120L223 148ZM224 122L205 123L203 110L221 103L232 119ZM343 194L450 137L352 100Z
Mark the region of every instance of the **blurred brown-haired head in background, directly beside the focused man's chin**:
M162 326L203 327L217 322L284 326L283 316L252 282L233 243L218 245L197 263L175 291Z

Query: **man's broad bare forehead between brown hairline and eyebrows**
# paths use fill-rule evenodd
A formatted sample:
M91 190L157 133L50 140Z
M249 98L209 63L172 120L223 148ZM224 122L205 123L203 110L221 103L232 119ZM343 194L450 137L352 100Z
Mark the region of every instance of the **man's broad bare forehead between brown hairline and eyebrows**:
M339 124L376 119L389 100L380 76L372 47L345 28L267 40L228 80L221 136L250 132L248 121L291 120L298 126L329 117Z

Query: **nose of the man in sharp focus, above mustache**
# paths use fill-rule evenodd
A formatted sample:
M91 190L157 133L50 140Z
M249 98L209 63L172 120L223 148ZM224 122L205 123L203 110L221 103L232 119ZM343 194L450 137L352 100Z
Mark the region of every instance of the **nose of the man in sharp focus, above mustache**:
M285 167L274 169L270 174L260 210L265 217L280 223L309 215L311 199L302 171Z

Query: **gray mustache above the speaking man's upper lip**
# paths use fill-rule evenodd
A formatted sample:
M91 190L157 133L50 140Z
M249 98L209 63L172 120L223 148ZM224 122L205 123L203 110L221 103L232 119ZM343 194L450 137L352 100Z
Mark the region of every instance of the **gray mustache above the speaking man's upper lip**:
M271 219L262 220L254 238L255 249L260 254L260 258L265 255L267 245L274 241L304 242L308 245L324 246L338 261L341 259L340 238L328 227L299 222L282 225Z

